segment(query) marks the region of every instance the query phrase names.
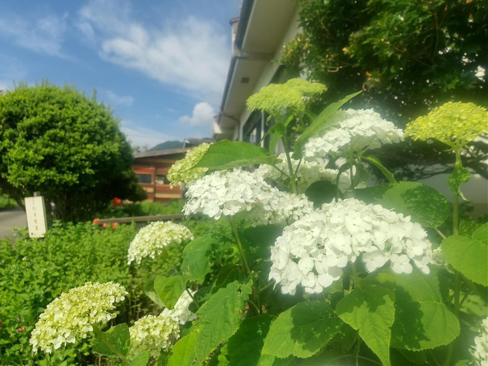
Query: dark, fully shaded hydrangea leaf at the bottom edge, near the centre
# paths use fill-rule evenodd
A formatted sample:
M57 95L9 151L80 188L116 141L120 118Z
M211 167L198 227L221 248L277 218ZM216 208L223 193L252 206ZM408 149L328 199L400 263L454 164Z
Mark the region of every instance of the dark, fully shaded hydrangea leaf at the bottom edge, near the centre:
M230 365L257 364L272 319L272 316L263 314L243 320L237 332L227 341Z

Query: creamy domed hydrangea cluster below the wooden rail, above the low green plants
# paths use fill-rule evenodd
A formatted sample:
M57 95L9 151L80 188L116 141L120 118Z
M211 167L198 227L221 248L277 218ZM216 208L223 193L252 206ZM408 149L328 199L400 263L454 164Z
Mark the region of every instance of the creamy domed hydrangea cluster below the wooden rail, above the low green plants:
M132 261L139 264L144 257L154 258L156 254L161 255L164 246L181 244L188 240L193 240L193 234L182 224L155 221L139 230L130 243L127 264Z

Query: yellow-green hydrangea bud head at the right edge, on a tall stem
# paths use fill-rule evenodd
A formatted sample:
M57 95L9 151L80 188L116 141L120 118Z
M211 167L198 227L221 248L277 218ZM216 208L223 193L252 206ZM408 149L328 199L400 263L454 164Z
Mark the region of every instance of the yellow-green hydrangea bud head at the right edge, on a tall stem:
M487 132L487 109L474 103L447 102L407 124L404 137L436 139L463 146Z

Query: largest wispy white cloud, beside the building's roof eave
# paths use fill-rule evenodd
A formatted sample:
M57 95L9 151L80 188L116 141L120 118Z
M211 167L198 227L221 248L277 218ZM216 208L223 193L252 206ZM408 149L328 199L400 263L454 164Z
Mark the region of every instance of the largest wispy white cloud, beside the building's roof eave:
M187 17L141 25L130 3L91 1L79 12L78 29L96 44L103 60L138 70L191 95L218 102L230 52L225 31L208 20Z

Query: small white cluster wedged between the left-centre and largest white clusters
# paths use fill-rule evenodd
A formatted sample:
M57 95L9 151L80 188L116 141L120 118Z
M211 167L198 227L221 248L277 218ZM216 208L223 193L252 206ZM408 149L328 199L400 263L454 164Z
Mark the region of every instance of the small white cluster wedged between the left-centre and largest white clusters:
M272 188L267 204L257 205L249 213L248 219L254 226L267 224L285 226L312 211L313 202L308 201L305 194L296 195Z

